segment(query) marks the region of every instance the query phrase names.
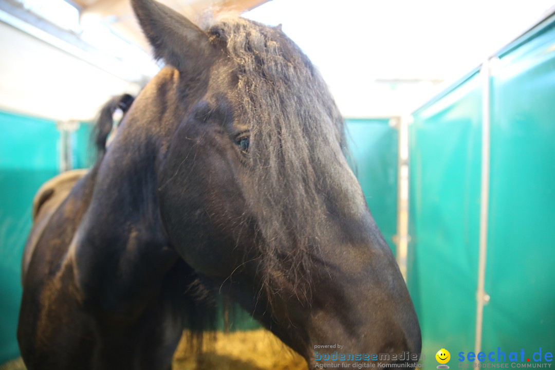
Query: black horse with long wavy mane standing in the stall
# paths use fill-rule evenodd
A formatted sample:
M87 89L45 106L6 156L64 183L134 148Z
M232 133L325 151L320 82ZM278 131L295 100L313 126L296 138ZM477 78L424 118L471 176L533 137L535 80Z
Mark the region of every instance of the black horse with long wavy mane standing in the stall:
M27 367L168 369L218 293L311 367L334 351L315 346L334 343L419 353L410 296L309 59L279 28L222 17L202 31L157 2L133 7L168 67L36 236L18 328Z

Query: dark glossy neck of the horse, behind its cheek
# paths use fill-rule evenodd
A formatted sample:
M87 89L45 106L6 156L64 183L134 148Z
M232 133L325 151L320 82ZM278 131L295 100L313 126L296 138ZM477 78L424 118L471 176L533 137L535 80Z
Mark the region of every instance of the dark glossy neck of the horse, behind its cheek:
M171 130L169 116L178 114L170 108L174 72L162 74L135 100L97 164L92 200L77 232L80 286L105 311L143 307L178 260L157 198L157 166L169 136L164 131ZM98 271L104 271L100 278Z

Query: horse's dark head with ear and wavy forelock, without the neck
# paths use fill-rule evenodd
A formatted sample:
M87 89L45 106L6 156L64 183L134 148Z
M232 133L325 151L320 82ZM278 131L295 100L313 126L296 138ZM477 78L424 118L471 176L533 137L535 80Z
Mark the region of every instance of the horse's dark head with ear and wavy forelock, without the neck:
M148 127L171 247L310 364L332 343L419 353L405 282L306 55L279 27L223 16L200 29L151 0L133 8L167 66L123 125Z

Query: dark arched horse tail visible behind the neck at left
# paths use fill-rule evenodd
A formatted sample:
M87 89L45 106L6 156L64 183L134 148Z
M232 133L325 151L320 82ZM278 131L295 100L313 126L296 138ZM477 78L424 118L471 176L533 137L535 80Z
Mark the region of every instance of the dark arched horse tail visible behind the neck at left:
M117 97L113 97L108 100L108 102L106 102L104 107L100 110L100 114L94 124L93 134L91 136L91 139L94 140L94 147L96 148L99 157L104 155L106 152L108 136L114 127L115 111L120 109L122 110L123 116L125 116L125 113L127 113L131 104L133 104L133 100L135 100L133 95L118 95ZM117 124L119 124L119 122Z

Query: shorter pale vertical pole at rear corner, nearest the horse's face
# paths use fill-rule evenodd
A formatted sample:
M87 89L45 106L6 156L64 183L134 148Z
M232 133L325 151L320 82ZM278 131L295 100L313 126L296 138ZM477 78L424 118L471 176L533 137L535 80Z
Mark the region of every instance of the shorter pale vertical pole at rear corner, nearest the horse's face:
M410 117L393 118L390 125L398 129L397 153L397 264L401 274L407 281L408 256L408 123ZM395 120L395 121L393 121Z

